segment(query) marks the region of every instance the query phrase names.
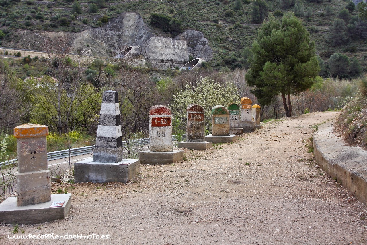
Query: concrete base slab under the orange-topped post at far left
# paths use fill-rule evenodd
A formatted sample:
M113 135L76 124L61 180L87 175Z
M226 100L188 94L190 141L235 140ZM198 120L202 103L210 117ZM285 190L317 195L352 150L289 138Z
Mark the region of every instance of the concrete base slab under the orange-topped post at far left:
M62 207L50 207L52 202L64 202ZM64 219L71 206L71 194L51 195L51 201L27 206L17 206L15 196L0 204L0 222L6 224L39 224Z

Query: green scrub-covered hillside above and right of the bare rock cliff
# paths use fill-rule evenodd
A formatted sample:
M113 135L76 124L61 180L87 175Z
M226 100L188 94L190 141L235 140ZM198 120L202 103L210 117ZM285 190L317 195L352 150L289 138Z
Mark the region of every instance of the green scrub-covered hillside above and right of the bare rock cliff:
M281 18L293 12L303 21L315 42L316 53L325 62L320 75L335 77L337 74L328 70L334 53L355 58L353 64L358 63L360 68L354 70L361 72L367 66L365 8L363 3L354 6L342 0L164 0L154 4L145 0L1 0L0 39L3 46L17 47L19 29L80 32L106 25L123 12L135 11L163 36L175 36L185 29L203 32L214 50L207 65L217 70L236 69L246 67L246 49L251 47L268 13Z

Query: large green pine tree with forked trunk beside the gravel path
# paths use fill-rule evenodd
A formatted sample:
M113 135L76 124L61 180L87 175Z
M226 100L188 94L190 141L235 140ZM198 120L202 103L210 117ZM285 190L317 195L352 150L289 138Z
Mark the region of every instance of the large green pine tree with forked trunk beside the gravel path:
M252 93L262 105L281 95L290 117L290 95L310 88L320 71L309 32L292 13L285 14L281 21L269 15L252 44L252 52L254 57L246 74Z

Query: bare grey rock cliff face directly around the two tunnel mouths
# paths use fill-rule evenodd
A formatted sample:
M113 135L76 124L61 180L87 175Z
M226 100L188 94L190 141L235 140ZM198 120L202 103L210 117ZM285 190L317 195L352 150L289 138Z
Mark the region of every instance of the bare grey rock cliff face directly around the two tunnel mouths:
M194 58L204 57L208 60L212 58L212 50L203 33L188 30L175 39L157 37L153 35L142 17L134 12L123 13L111 19L108 25L90 32L92 38L115 52L116 58L124 57L128 47L140 47L145 60L156 68L181 67L188 62L189 54Z

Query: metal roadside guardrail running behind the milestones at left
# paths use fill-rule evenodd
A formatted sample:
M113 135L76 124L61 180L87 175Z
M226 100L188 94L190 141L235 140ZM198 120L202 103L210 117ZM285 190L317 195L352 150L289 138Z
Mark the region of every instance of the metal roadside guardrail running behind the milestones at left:
M182 139L186 139L186 134L182 135ZM177 141L176 135L172 135L172 141ZM124 142L122 142L122 145L125 146L128 143L130 143L130 141L128 141L128 142L124 141ZM134 140L131 141L131 143L134 144L134 145L148 145L150 143L150 141L149 141L149 138L134 139ZM95 146L92 145L92 146L84 146L84 147L80 147L80 148L57 150L55 152L47 152L47 161L62 159L62 158L66 158L66 157L69 157L69 156L80 156L80 155L84 155L84 154L91 154L93 152L94 147ZM12 159L12 160L8 160L8 161L4 161L4 162L0 163L0 167L14 164L17 161L18 161L18 159Z

